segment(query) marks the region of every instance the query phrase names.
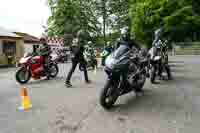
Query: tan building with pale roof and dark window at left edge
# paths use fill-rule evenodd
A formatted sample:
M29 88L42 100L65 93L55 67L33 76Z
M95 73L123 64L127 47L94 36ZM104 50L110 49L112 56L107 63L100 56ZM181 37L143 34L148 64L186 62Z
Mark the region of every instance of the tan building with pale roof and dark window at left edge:
M0 64L15 64L24 54L23 37L0 28Z

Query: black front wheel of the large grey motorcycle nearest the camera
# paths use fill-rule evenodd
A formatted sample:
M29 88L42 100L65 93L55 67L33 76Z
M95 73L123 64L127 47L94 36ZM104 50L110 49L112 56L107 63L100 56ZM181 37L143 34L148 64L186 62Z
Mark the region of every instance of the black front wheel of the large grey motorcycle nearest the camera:
M110 80L108 80L101 90L100 94L100 104L104 109L110 109L113 107L114 103L117 101L119 95L116 92L117 85L113 85Z

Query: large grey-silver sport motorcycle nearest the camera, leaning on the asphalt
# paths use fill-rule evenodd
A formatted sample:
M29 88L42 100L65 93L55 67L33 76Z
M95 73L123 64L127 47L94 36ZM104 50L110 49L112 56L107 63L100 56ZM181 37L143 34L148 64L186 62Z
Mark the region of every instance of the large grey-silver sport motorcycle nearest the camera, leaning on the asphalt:
M110 109L119 96L141 90L146 81L147 60L140 60L127 46L120 46L105 61L107 81L100 94L100 104Z

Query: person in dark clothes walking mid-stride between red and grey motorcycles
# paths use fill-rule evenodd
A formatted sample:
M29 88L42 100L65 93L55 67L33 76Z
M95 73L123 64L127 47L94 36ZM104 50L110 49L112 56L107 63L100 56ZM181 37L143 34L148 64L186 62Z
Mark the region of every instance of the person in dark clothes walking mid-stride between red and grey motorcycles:
M77 41L73 42L73 45L71 46L71 52L72 52L72 67L68 73L67 79L66 79L66 86L71 87L71 82L70 79L72 77L73 72L76 69L76 66L81 64L84 68L84 76L85 76L85 82L90 83L90 80L88 79L88 73L87 73L87 68L86 68L86 61L83 56L84 52L84 45L87 43L87 40L85 40L84 36L84 31L79 31L77 33ZM75 44L74 44L75 43Z

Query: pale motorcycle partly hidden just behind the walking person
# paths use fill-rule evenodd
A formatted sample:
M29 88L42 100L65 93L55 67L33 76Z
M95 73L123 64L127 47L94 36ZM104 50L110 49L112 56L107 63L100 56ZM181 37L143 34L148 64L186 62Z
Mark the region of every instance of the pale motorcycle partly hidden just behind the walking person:
M97 63L97 59L96 59L96 56L95 54L93 53L93 51L85 51L83 53L84 55L84 58L85 58L85 61L86 61L86 68L88 70L92 69L94 70L95 68L97 68L98 66L98 63ZM79 65L79 70L80 71L83 71L84 70L84 67L82 64Z

